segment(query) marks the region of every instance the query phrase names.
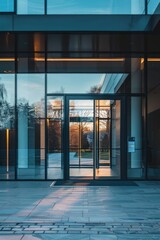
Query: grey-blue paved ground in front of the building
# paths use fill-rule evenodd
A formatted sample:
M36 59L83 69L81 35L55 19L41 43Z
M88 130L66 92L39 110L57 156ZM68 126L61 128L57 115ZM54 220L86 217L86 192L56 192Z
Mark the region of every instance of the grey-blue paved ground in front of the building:
M159 240L160 182L136 184L0 182L0 240Z

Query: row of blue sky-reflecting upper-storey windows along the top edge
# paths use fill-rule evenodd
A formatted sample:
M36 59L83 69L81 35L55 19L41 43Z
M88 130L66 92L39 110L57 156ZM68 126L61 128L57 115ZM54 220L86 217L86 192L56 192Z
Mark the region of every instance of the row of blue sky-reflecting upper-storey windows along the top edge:
M145 0L46 0L48 14L141 14ZM153 14L160 0L148 0ZM18 14L44 14L44 0L17 0ZM13 12L14 0L0 0L1 12Z

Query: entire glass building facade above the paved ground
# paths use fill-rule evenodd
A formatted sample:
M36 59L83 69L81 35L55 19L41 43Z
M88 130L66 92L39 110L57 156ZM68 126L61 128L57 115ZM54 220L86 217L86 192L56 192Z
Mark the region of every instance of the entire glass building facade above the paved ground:
M160 1L65 2L0 1L0 179L160 179Z

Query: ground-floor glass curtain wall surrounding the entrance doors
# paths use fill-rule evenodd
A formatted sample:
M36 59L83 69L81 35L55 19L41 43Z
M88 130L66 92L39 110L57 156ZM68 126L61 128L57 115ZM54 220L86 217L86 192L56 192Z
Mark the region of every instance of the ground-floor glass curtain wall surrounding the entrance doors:
M54 126L59 125L62 131L63 114L59 117L49 115L49 132L45 132L46 116L45 94L121 94L126 100L126 148L128 178L143 178L145 169L144 129L145 129L145 71L148 75L148 144L151 156L148 159L148 176L158 178L159 138L159 36L148 37L148 49L157 52L148 58L147 66L143 56L144 46L142 34L45 34L1 33L0 45L0 136L1 142L1 175L2 179L13 179L14 166L18 179L44 179L56 161L46 163L45 134L50 136L47 151L59 153L63 148L52 144ZM45 43L47 39L47 43ZM158 40L157 40L158 39ZM86 45L84 44L86 40ZM132 46L128 44L132 40ZM64 45L64 42L66 45ZM74 44L72 44L74 43ZM95 44L96 43L96 44ZM112 43L112 44L111 44ZM55 44L55 45L54 45ZM15 45L17 53L15 59ZM45 52L45 46L47 52ZM56 51L56 47L57 51ZM54 61L66 56L73 58L93 57L94 61ZM96 56L94 55L96 49ZM108 54L108 51L114 53ZM141 52L140 52L141 50ZM106 54L107 52L107 54ZM116 52L119 52L117 54ZM130 52L130 54L128 54ZM131 52L134 52L131 53ZM81 53L85 54L84 55ZM73 55L72 55L73 54ZM75 55L74 55L75 54ZM98 62L99 58L106 58ZM16 65L16 73L15 73ZM147 67L147 68L146 68ZM146 68L146 69L145 69ZM47 72L47 74L45 74ZM46 81L46 82L45 82ZM76 83L76 84L75 84ZM68 86L71 86L70 88ZM155 93L155 94L154 94ZM16 114L15 114L15 99ZM48 99L50 101L50 99ZM63 100L61 99L61 105ZM47 106L48 107L48 106ZM54 110L54 105L52 106ZM135 111L136 110L136 111ZM60 111L60 110L59 110ZM157 115L156 115L157 114ZM53 117L52 117L53 116ZM15 121L16 124L15 124ZM156 125L157 124L157 125ZM17 126L17 127L15 127ZM154 128L156 126L156 128ZM15 129L17 138L15 137ZM154 134L153 134L154 132ZM157 135L156 135L157 134ZM8 139L8 140L7 140ZM48 139L48 138L47 138ZM129 145L132 143L132 149ZM49 145L50 144L50 145ZM17 149L17 151L16 151ZM17 153L15 157L14 153ZM16 162L16 164L15 164ZM55 164L55 165L54 165ZM63 161L57 164L57 178L63 178ZM48 169L47 169L48 167ZM56 177L56 173L54 177Z

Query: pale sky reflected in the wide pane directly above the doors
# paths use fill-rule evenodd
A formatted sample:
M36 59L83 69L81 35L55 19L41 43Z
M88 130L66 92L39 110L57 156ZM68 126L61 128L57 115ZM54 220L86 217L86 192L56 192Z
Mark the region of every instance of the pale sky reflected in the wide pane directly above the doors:
M48 74L48 93L88 93L103 74Z

